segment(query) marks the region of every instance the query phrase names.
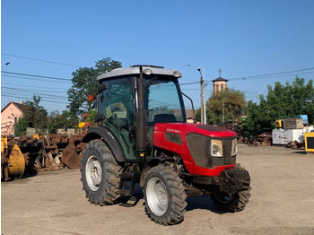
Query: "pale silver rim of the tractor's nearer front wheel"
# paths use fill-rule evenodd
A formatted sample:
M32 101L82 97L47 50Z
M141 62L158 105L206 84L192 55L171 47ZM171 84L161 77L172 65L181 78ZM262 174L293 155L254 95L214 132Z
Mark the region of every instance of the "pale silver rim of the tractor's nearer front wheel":
M164 182L157 177L149 179L146 187L147 204L157 216L166 213L168 208L168 191Z

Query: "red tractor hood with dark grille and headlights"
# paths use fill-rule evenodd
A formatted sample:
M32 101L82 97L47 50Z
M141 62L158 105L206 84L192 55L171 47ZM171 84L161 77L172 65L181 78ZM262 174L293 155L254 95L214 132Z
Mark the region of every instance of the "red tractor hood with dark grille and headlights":
M236 133L218 126L190 123L157 123L153 145L180 156L188 173L218 176L233 169L236 161ZM219 152L214 152L214 148ZM217 154L217 155L214 155Z

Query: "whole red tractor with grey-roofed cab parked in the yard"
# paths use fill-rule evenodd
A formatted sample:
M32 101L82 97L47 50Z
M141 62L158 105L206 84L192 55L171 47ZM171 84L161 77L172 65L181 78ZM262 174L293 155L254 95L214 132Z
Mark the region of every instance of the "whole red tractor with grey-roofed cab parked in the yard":
M187 196L209 194L238 212L249 202L249 172L236 164L236 133L190 124L177 70L134 65L100 74L95 126L83 137L82 182L88 200L112 205L144 187L147 215L183 221Z

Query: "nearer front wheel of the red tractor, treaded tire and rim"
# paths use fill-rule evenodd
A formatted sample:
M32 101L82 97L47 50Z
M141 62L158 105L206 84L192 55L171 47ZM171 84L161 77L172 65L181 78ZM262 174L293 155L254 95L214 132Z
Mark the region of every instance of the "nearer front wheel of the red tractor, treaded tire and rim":
M144 179L145 212L154 222L172 225L183 221L187 193L179 174L169 166L149 170Z

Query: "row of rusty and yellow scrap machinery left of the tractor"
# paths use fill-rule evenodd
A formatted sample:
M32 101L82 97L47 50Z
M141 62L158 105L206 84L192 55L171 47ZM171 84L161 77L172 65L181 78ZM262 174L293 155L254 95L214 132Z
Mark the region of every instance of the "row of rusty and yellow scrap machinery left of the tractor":
M1 180L41 170L79 168L85 144L82 135L33 135L1 138Z

